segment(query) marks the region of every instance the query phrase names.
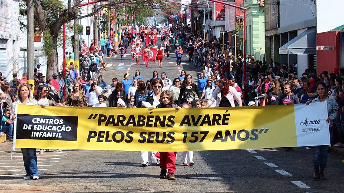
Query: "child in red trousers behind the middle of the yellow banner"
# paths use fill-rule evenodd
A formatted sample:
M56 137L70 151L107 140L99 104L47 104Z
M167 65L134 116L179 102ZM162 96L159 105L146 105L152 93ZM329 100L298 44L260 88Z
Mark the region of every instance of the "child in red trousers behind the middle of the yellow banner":
M172 92L169 90L162 91L160 95L161 103L157 105L157 108L175 108L176 110L180 109L180 106L174 103ZM150 107L149 109L153 109ZM159 151L160 153L160 178L166 177L166 172L169 173L168 179L175 180L174 172L175 172L175 154L176 152L173 151ZM166 171L168 170L168 171Z

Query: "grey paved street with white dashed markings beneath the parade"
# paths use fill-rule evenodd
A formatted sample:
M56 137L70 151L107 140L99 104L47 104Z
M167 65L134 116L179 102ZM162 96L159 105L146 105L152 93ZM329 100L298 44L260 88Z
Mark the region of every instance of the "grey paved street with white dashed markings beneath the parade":
M173 80L185 69L194 81L200 69L193 69L184 56L180 68L174 55L164 58L163 68L152 61L149 68L137 66L130 54L106 58L105 81L130 77L139 69L146 81L153 70L166 72ZM238 120L240 121L240 120ZM194 152L193 167L182 166L181 152L176 160L176 180L160 179L157 166L140 167L140 152L53 150L37 154L40 179L23 180L20 149L11 158L10 142L0 144L1 192L312 192L332 193L344 190L342 157L329 154L325 176L327 181L313 181L313 151L304 147L284 152L283 148L254 150L221 150Z

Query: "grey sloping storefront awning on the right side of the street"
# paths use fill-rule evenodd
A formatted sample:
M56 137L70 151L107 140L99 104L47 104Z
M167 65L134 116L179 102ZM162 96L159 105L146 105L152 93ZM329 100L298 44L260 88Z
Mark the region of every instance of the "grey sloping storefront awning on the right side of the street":
M279 54L316 54L315 28L307 29L279 48Z

